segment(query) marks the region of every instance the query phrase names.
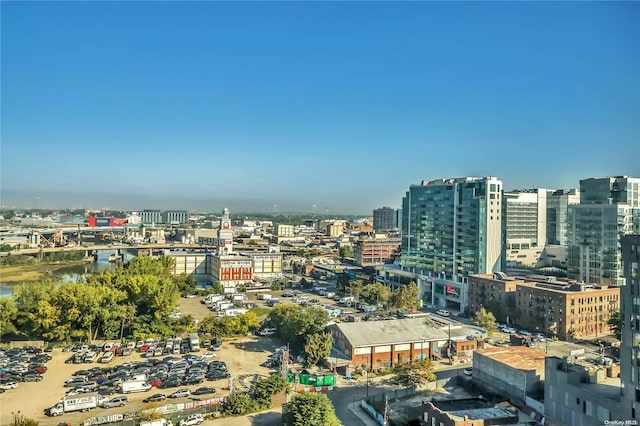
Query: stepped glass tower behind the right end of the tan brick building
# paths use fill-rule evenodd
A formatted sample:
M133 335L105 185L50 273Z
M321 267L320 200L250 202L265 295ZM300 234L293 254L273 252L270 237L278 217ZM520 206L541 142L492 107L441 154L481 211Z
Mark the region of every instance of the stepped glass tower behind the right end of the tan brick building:
M569 206L567 273L599 285L624 285L620 237L640 228L640 178L580 181L580 204Z

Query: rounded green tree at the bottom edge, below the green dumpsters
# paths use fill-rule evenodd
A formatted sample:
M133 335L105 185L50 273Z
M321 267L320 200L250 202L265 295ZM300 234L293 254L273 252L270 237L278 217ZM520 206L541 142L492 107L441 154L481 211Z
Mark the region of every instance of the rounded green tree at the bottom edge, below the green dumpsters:
M327 395L303 392L291 398L285 416L289 426L339 426L335 409Z

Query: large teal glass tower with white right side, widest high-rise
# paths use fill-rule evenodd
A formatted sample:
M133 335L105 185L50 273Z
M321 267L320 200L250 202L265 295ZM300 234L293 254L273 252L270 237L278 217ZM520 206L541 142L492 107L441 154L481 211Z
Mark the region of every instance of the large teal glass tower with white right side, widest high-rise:
M502 182L425 180L402 200L404 268L453 280L501 268Z

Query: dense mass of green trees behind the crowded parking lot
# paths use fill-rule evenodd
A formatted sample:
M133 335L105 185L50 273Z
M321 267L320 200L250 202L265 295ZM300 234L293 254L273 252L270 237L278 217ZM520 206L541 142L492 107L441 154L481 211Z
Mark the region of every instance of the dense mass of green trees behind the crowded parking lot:
M192 277L171 275L173 259L138 257L77 283L42 280L16 286L0 299L0 333L68 342L98 337L171 337L188 331L190 317L169 315Z

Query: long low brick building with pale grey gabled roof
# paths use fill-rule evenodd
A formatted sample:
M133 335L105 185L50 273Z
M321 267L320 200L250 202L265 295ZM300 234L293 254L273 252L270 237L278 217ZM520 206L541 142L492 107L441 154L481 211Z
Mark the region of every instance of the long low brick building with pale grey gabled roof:
M354 366L386 368L422 358L470 357L483 334L477 327L434 316L338 323L328 327L333 347Z

